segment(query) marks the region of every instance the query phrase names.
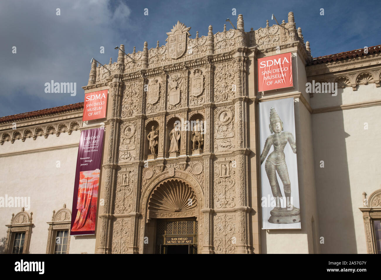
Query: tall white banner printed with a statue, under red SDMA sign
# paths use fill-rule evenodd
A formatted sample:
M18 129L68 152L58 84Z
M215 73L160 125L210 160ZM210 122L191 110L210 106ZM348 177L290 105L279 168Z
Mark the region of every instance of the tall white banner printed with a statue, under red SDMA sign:
M294 99L259 103L262 229L300 229Z

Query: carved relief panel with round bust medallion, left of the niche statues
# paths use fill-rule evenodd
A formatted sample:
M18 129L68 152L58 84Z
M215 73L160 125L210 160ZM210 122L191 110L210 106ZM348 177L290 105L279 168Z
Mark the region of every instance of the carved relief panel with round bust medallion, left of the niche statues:
M136 121L120 126L119 162L136 160Z

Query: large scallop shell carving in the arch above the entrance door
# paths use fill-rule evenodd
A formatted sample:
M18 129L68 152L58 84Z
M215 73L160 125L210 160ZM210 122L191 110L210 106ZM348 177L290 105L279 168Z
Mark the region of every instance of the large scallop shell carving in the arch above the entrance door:
M148 209L157 212L179 212L196 208L197 200L189 185L178 179L162 182L152 193Z

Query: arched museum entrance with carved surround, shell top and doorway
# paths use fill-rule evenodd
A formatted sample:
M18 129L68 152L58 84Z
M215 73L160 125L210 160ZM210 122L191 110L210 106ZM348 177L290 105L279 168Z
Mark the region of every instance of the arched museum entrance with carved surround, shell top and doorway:
M142 252L197 254L202 242L199 183L184 171L165 171L152 179L142 198L140 228L148 240L142 240Z

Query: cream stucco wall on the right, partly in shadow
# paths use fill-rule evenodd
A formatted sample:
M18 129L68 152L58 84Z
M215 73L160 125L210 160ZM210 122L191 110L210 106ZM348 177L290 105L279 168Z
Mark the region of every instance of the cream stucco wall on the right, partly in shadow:
M331 107L380 99L381 88L375 83L357 88L341 89L337 97L315 94L311 103ZM362 193L370 195L381 184L380 119L380 106L312 115L322 253L367 253L359 207L363 206Z

